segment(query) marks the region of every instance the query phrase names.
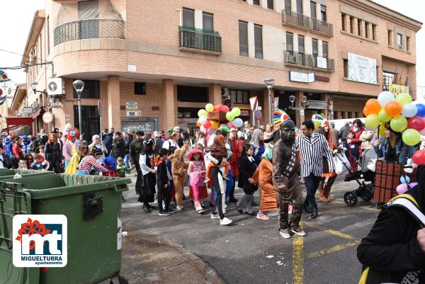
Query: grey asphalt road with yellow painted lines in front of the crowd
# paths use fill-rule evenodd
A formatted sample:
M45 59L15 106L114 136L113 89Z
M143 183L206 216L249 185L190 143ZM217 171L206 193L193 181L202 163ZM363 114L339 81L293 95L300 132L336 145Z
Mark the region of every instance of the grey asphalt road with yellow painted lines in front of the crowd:
M124 226L147 229L181 244L208 262L229 284L358 283L361 264L356 248L379 212L372 203L363 200L348 208L343 196L355 189L356 183L337 180L332 189L335 202L319 202L316 220L303 213L302 226L307 236L283 239L278 234L276 212L268 214L271 220L257 220L239 215L234 203L227 203L226 214L234 221L232 226L220 226L218 220L210 219L209 212L199 215L189 200L185 202L185 210L170 216L159 216L157 210L142 212L134 184L135 181L125 193ZM237 189L236 196L242 194L242 189ZM255 200L259 203L258 195Z

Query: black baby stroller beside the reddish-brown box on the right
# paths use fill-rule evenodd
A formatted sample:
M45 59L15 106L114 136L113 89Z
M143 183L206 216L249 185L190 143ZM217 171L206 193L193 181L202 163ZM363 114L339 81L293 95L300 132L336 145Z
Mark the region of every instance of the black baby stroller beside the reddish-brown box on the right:
M336 155L336 157L341 159L339 155ZM367 149L363 151L363 158L361 159L361 163L358 163L358 165L361 167L361 170L346 176L344 181L356 181L358 183L358 188L356 190L347 191L344 194L344 202L346 205L350 207L356 205L359 197L365 201L369 201L373 198L373 192L375 188L375 173L368 169L368 164L372 163L372 159L376 159L376 153L373 149ZM346 169L348 169L348 166L346 166Z

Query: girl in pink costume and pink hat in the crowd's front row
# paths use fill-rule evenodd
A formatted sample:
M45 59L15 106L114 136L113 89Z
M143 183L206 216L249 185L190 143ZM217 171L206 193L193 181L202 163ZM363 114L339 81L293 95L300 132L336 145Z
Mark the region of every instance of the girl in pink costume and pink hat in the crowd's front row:
M205 188L205 163L203 161L204 154L200 149L193 149L188 154L189 167L188 175L190 177L189 183L193 191L193 199L195 200L195 210L202 212L203 208L200 205L200 193Z

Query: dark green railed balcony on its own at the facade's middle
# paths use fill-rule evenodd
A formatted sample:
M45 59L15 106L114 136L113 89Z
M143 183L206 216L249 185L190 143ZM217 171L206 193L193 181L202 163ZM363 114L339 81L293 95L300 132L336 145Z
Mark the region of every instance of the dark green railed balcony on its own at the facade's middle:
M214 31L179 27L180 50L221 55L222 41L220 34Z

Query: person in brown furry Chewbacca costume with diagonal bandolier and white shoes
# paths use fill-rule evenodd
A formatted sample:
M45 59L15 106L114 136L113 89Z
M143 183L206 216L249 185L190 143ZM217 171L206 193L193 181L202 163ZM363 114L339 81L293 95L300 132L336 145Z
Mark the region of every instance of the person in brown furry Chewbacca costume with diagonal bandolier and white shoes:
M278 202L279 231L285 239L290 238L290 231L305 236L300 227L302 193L297 172L299 166L295 124L292 120L285 120L280 125L280 140L273 147L273 185ZM288 220L290 203L293 203L293 215Z

